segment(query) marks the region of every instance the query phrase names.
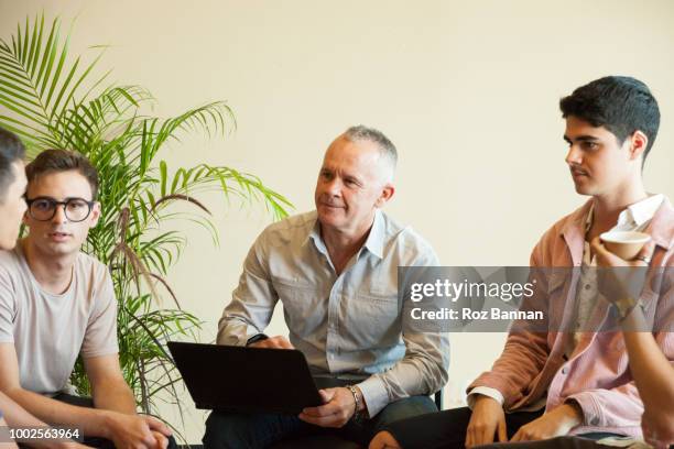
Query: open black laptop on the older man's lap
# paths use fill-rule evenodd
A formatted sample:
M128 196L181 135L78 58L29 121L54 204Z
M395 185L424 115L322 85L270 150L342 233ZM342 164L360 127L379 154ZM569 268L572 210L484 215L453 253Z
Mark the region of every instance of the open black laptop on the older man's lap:
M297 350L177 341L168 350L196 408L297 415L323 404Z

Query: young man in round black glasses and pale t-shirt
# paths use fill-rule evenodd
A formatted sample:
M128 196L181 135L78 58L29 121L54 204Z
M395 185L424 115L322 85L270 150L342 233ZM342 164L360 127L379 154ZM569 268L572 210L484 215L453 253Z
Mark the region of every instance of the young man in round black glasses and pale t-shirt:
M80 429L88 446L174 446L164 424L135 413L110 274L80 252L100 218L96 169L78 153L48 150L26 176L29 236L0 252L0 391L45 423ZM78 354L91 399L66 393Z

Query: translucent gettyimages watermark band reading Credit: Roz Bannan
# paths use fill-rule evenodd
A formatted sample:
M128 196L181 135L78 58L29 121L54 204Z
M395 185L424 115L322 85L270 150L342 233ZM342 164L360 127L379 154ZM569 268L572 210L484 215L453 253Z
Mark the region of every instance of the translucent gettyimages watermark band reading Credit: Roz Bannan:
M629 292L638 298L646 318L644 328L634 330L673 331L674 271L639 270L628 273L627 269L598 267L400 267L399 306L407 326L418 331L602 332L620 327L613 305L617 298L611 295ZM602 288L606 283L615 285L621 281L624 288Z

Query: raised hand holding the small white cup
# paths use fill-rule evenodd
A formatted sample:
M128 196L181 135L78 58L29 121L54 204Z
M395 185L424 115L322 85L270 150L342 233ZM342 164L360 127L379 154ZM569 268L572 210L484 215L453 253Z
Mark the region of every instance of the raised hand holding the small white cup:
M651 240L644 244L633 261L626 261L608 251L599 237L593 239L590 247L597 256L597 266L602 269L598 273L597 287L604 297L611 303L624 298L639 299L649 266L639 258L650 261L655 243Z

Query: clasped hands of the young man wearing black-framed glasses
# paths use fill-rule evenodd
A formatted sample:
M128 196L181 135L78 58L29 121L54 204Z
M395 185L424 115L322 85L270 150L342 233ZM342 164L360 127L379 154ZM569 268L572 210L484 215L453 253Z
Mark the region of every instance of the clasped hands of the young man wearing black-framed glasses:
M112 440L117 448L164 449L168 443L166 437L171 436L171 429L152 416L107 412L107 424L106 437Z

